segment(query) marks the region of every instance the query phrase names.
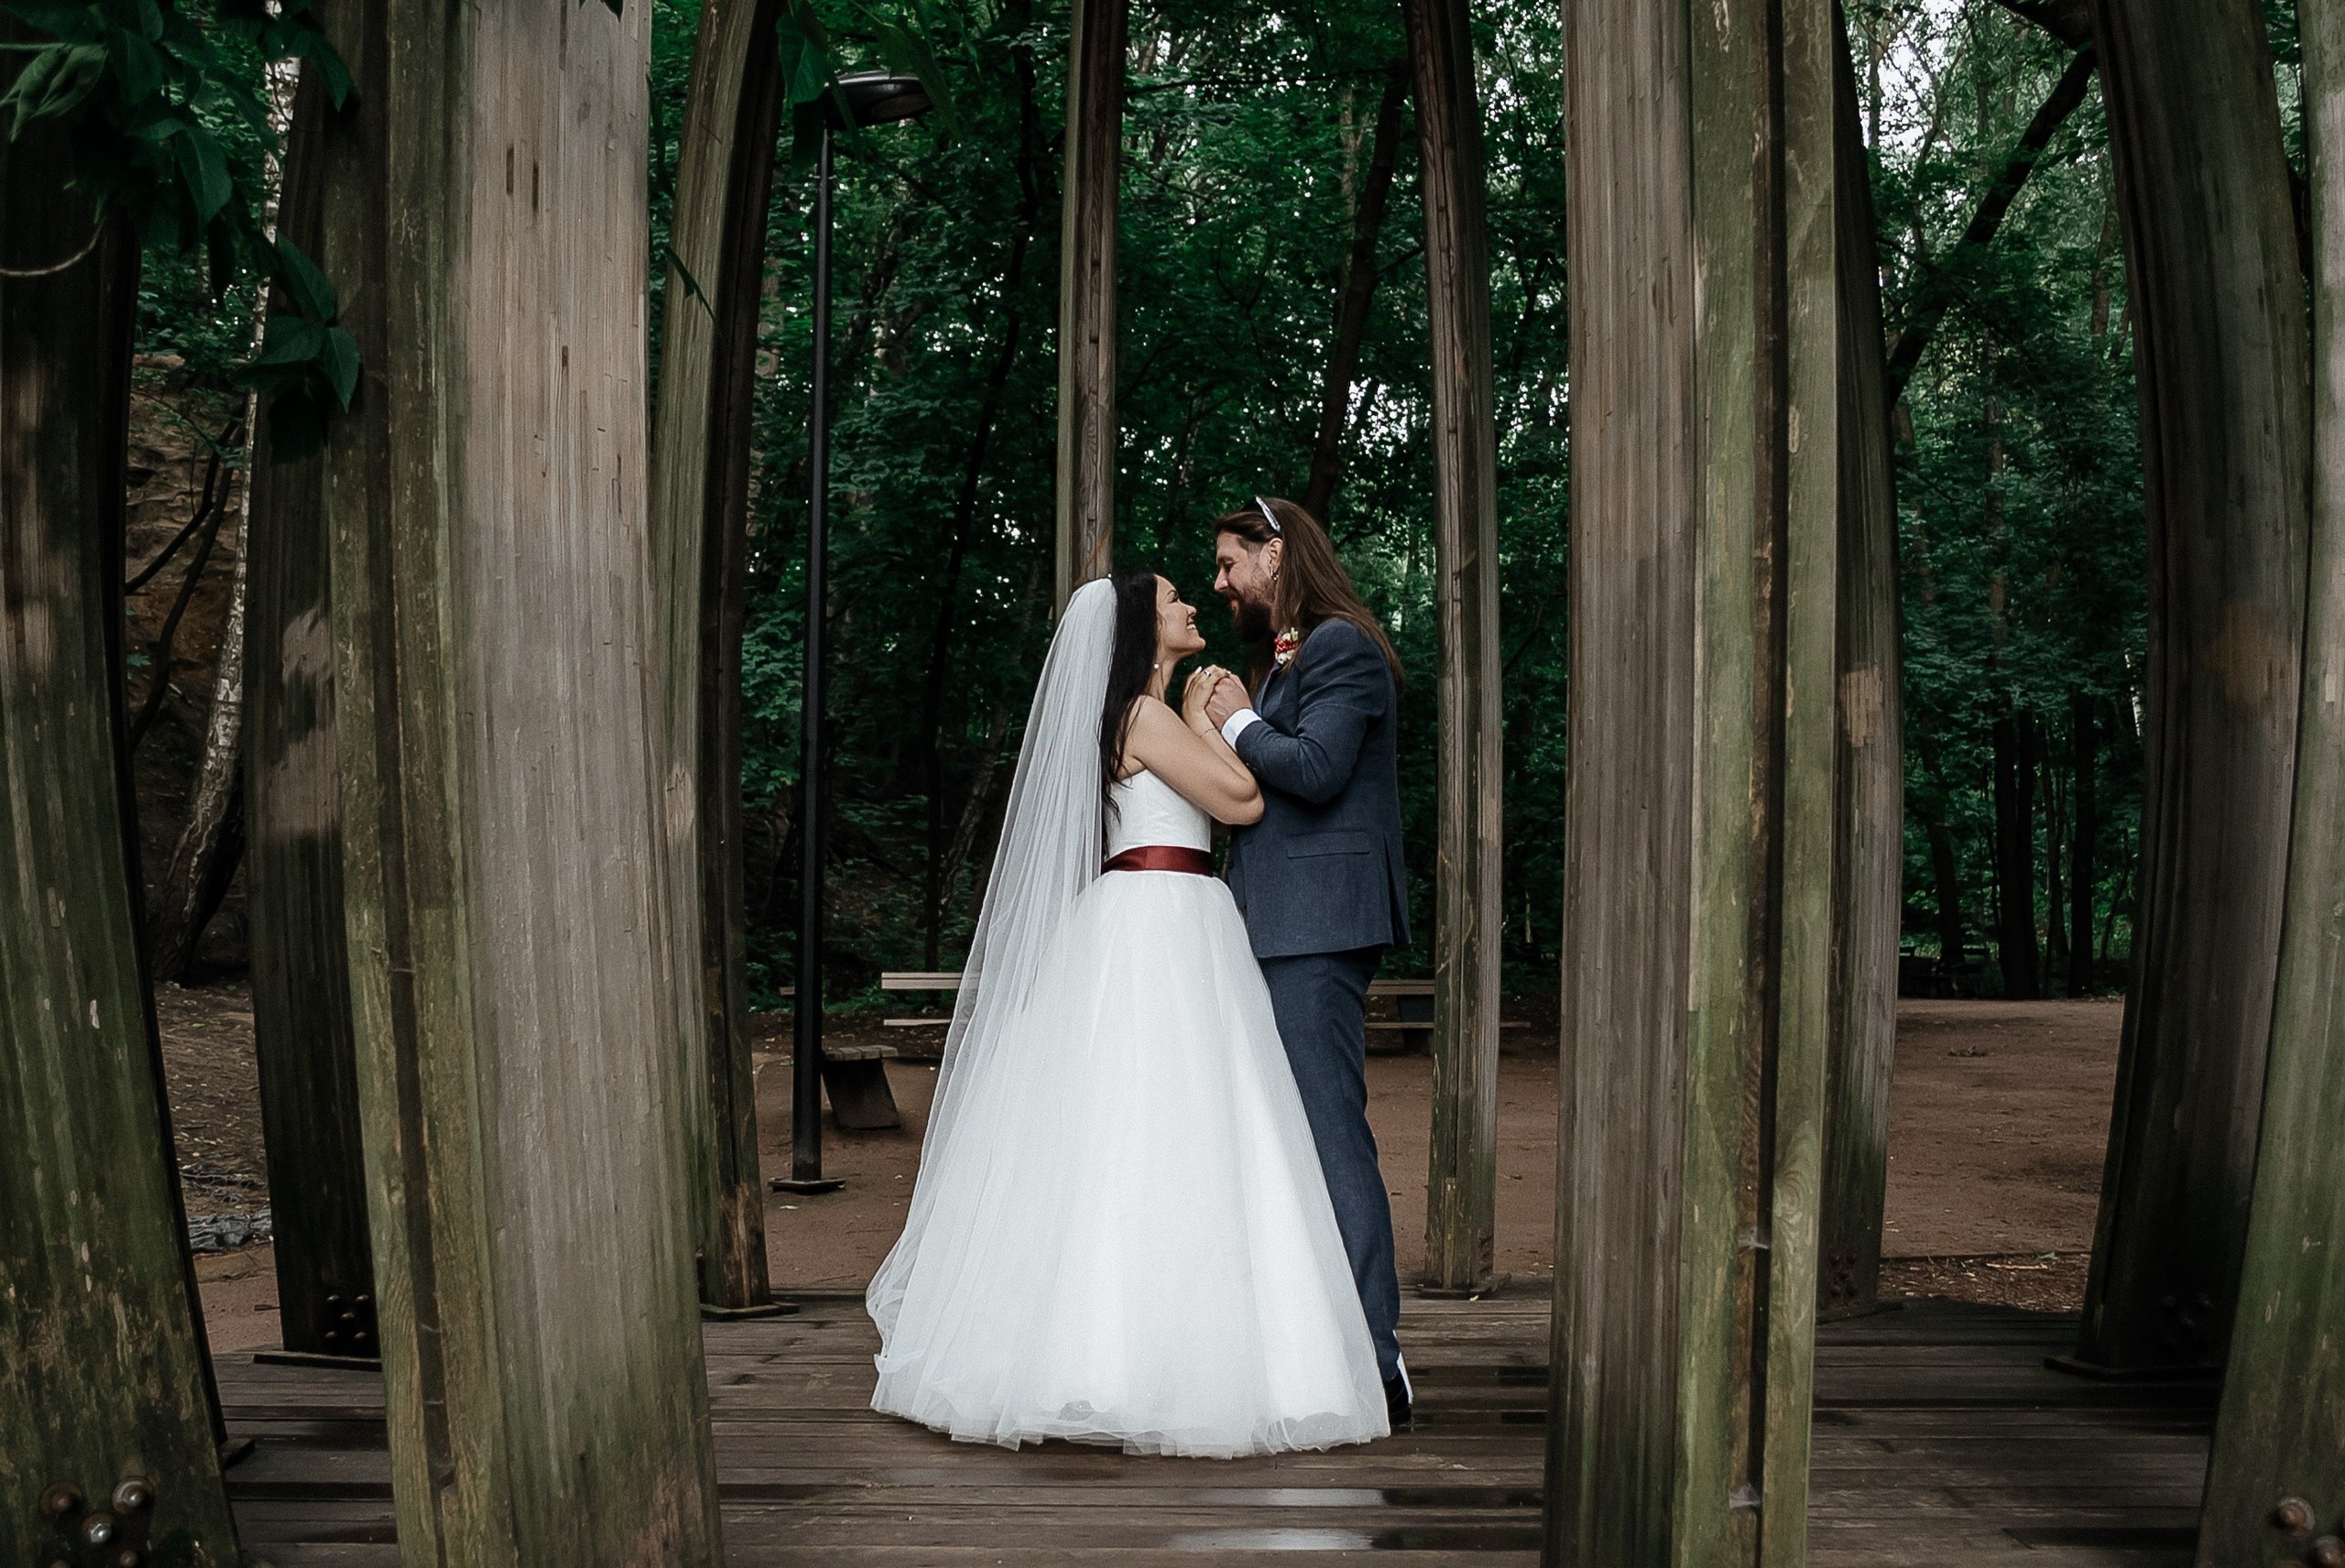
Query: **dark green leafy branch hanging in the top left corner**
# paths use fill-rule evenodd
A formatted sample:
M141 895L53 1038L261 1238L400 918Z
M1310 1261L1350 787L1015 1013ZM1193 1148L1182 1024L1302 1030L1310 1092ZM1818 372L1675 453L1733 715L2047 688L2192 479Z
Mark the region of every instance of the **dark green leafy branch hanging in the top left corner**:
M340 302L317 263L267 234L258 192L237 183L213 129L242 122L279 150L267 103L220 38L244 40L265 63L303 61L335 108L349 101L349 68L312 0L274 9L267 0L220 0L209 28L171 0L0 0L0 12L45 40L16 45L30 59L0 94L9 141L35 122L61 122L70 188L94 199L98 227L120 218L145 246L202 251L213 295L251 270L293 302L270 319L260 354L237 380L270 398L279 459L314 452L326 417L349 408L359 387L359 345L335 326Z

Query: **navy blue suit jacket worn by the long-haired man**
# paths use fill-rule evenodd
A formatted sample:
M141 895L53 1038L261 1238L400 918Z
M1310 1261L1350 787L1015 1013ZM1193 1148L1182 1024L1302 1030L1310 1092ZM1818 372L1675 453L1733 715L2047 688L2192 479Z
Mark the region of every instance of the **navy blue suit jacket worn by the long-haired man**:
M1238 757L1262 820L1229 844L1229 893L1257 959L1405 947L1393 670L1351 621L1320 621L1255 694Z

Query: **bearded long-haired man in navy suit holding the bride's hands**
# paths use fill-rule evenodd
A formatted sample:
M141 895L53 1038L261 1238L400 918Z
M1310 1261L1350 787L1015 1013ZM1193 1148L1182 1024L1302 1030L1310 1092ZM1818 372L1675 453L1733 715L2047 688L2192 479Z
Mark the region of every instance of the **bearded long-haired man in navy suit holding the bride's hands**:
M1245 684L1215 684L1205 713L1262 780L1262 820L1229 846L1229 891L1271 987L1400 1427L1409 1378L1395 1336L1393 1207L1367 1127L1365 1022L1377 961L1409 940L1393 762L1400 661L1301 506L1255 497L1215 530L1212 588L1250 663Z

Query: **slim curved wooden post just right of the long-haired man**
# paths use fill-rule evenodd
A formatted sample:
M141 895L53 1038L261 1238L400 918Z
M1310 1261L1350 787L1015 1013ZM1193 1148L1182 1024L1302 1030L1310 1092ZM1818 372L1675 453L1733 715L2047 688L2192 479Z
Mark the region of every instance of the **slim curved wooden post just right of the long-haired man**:
M1489 1289L1498 1160L1498 436L1489 389L1482 110L1466 0L1405 0L1433 328L1440 806L1426 1291Z

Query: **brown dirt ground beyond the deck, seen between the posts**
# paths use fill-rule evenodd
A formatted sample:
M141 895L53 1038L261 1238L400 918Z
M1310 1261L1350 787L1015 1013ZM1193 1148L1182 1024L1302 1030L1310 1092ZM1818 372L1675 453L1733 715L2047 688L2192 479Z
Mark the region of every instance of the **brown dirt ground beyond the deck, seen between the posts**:
M253 1214L265 1198L251 998L242 984L162 987L164 1064L188 1209ZM1885 1296L1953 1296L2073 1310L2085 1294L2108 1102L2118 1064L2115 1001L1909 1001L1897 1013L1890 1095ZM837 1038L905 1048L889 1064L896 1132L823 1130L823 1170L847 1186L821 1198L774 1193L767 1249L776 1287L849 1287L870 1277L903 1223L940 1029L863 1022ZM1430 1062L1369 1059L1369 1120L1393 1193L1400 1268L1423 1259ZM788 1020L757 1029L764 1170L790 1165ZM1552 1273L1552 1022L1505 1034L1498 1066L1501 1275ZM197 1259L216 1350L274 1343L267 1245Z

